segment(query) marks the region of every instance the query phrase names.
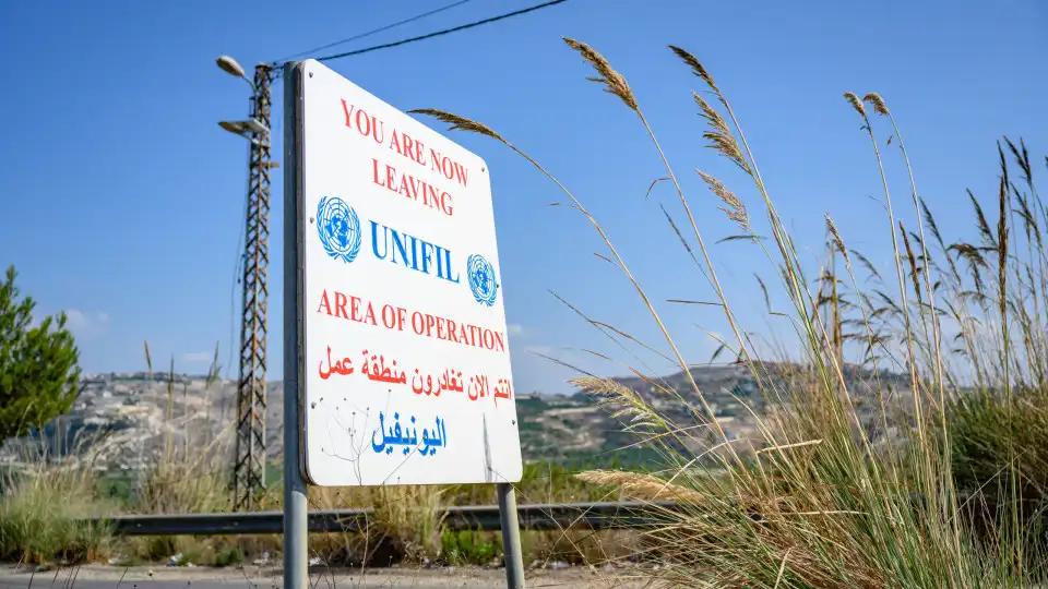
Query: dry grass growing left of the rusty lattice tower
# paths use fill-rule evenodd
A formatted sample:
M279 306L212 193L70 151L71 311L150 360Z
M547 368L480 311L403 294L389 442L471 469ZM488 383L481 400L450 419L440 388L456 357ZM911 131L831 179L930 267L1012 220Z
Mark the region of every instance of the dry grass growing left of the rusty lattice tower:
M153 363L148 344L146 362L152 382ZM217 358L217 350L216 350ZM204 395L214 393L215 364L209 371ZM204 435L211 431L207 416L174 412L176 377L174 361L167 377L167 411L158 440L152 435L78 435L68 454L49 443L66 446L63 440L41 440L28 446L26 456L0 480L0 560L35 562L102 558L114 552L120 560L157 561L183 555L184 562L223 557L222 542L228 539L181 537L117 540L108 526L94 526L83 518L119 513L195 514L229 510L227 483L229 436ZM61 428L57 428L61 430ZM140 448L145 468L132 474L130 496L106 496L99 474L104 455L123 446ZM61 452L63 456L56 457ZM182 560L182 558L179 558Z

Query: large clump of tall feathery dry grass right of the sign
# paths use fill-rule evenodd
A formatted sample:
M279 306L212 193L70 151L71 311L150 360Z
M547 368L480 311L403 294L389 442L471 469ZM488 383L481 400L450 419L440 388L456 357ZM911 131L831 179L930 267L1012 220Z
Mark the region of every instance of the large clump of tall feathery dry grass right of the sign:
M590 80L636 118L653 156L665 167L678 202L672 209L679 211L662 208L668 229L713 293L714 302L706 304L728 326L725 348L748 366L769 408L755 416L753 440L735 440L725 431L708 400L711 392L692 377L663 321L660 303L647 294L580 199L491 128L445 111L415 112L501 142L549 178L600 237L607 250L602 257L630 283L640 311L660 334L657 344L643 342L583 315L630 352L630 370L646 374L657 396L689 409L686 422L656 411L648 398L616 381L576 381L675 465L660 476L580 476L594 484L617 485L636 498L681 502L683 510L666 512L664 525L644 537L644 552L672 565L652 570L653 580L683 587L929 589L1043 580L1024 531L1029 512L1019 507L1031 477L1024 469L1029 458L1020 452L1026 442L1014 431L1019 404L1037 404L1032 392L1046 389L1048 373L1041 317L1048 312L1048 257L1039 229L1048 217L1033 189L1025 148L1008 143L1023 167L1025 188L1010 181L1002 152L996 226L973 197L980 243L948 245L919 197L900 128L885 101L874 93L861 98L846 93L880 173L886 213L882 223L891 236L893 263L884 271L876 268L847 247L826 216L829 255L812 272L802 263L726 95L699 59L670 47L702 88L692 98L705 124L703 137L717 156L735 164L742 182L733 189L734 181L704 171L699 177L734 231L777 268L775 279L762 280L762 288L788 301L788 311L778 315L794 327L787 349L800 359L796 370L803 376L783 380L779 365L766 361L718 277L713 251L695 221L707 201L686 196L626 77L588 45L565 41L595 70ZM885 172L889 157L900 158L907 170L902 190L908 197L902 203L893 200L895 187ZM1016 217L1023 219L1019 226ZM873 279L872 289L866 286L868 279ZM688 389L669 387L645 370L639 356L644 351L676 363ZM855 364L876 375L870 389L860 390L849 381ZM905 374L904 395L896 396L880 381L884 371ZM1023 423L1031 442L1044 435L1039 423ZM701 437L695 433L700 430ZM981 455L966 444L992 449ZM696 446L705 449L686 449ZM970 479L977 488L968 484L963 469L955 478L958 465L977 472ZM999 484L989 489L984 483L990 479ZM964 493L958 493L958 484ZM990 497L986 503L996 509L982 518L981 528L973 522L973 495Z

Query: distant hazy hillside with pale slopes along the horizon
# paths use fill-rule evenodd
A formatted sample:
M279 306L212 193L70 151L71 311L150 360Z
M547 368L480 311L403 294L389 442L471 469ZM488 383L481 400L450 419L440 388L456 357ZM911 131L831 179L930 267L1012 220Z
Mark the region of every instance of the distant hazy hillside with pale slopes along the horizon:
M783 373L785 364L770 364L771 374ZM763 413L764 399L750 371L743 365L696 366L691 375L703 390L711 409L733 438L755 432L750 405ZM896 392L906 381L895 374L880 375L849 370L849 389L861 396L879 377ZM639 377L616 378L636 390L662 414L677 423L693 422L690 409L675 396L660 393ZM679 392L690 404L698 397L683 372L657 378ZM26 459L26 452L47 447L52 456L91 457L104 472L131 473L155 461L169 448L210 448L230 452L233 416L236 412L234 381L209 381L203 376L145 373L111 373L84 380L84 389L70 413L53 420L34 436L9 440L0 450L0 462ZM266 438L271 459L283 454L282 382L267 386ZM525 460L552 462L645 464L651 450L640 447L633 434L612 420L605 408L582 392L571 396L529 394L516 399L521 444ZM701 448L693 448L701 450Z

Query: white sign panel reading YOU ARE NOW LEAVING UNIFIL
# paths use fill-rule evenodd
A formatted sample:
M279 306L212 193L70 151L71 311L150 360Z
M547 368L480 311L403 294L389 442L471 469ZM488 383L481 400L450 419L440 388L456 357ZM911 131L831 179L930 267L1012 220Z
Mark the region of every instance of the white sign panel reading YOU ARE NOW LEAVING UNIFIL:
M326 67L302 70L308 479L519 481L490 170Z

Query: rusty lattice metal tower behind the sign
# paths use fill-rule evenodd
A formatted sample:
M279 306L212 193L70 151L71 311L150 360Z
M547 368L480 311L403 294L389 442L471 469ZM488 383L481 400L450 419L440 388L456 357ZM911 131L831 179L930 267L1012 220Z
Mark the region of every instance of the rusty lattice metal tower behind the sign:
M233 472L234 509L255 507L265 492L265 365L266 309L270 298L270 130L274 69L254 69L254 94L249 119L264 127L249 139L248 203L243 242L240 380L237 390L237 449Z

